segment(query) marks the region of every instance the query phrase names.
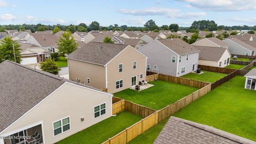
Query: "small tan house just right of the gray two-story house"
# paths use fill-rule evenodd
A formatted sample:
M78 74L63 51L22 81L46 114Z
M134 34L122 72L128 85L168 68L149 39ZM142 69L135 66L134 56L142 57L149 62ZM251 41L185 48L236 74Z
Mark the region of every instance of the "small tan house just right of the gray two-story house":
M199 52L199 65L226 67L230 64L231 54L227 48L194 46Z

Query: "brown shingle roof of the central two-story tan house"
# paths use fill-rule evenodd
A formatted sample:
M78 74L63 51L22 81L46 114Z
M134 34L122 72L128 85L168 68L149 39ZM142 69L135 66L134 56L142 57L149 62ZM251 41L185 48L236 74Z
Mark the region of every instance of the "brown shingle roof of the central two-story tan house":
M124 50L125 47L127 45L90 42L84 47L70 53L67 58L106 65L118 53Z

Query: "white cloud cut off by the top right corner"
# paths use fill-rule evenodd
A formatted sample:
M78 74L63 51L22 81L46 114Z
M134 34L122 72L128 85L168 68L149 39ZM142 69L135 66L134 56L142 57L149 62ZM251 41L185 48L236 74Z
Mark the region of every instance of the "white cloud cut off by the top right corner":
M255 0L176 0L188 2L190 6L210 11L243 11L256 10Z

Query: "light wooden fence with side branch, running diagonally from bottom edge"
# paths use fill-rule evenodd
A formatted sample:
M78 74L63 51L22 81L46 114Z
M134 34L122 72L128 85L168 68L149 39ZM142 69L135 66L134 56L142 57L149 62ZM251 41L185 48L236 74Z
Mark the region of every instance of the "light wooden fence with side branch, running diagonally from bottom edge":
M150 108L146 108L143 106L140 106L136 103L121 100L117 103L125 102L125 108L124 110L130 111L131 113L137 114L137 115L144 115L145 118L141 119L141 121L135 123L134 125L126 128L124 131L116 134L114 137L109 138L107 141L103 142L103 144L125 144L131 141L132 139L136 138L141 133L147 131L150 129L150 127L156 125L157 123L163 121L166 117L169 117L176 111L179 111L180 109L186 107L189 103L201 98L206 93L209 93L211 91L211 84L206 85L205 87L202 87L202 89L197 90L196 92L189 94L187 97L182 98L178 100L177 102L172 103L171 105L161 109L161 110L154 110ZM121 106L119 106L121 107ZM145 112L142 112L145 111ZM148 111L148 113L146 112ZM150 114L151 113L151 114Z

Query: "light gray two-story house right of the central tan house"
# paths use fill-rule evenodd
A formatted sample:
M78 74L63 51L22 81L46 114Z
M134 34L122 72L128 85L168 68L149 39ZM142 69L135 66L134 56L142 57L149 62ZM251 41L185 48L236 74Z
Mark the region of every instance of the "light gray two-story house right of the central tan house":
M180 38L155 39L138 51L148 57L147 71L180 77L197 69L199 51Z

